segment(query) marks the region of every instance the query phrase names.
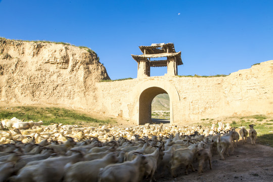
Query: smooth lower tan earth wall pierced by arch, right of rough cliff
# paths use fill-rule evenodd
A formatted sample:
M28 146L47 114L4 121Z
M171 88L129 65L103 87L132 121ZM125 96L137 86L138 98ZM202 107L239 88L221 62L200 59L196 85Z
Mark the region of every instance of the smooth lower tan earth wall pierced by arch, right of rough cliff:
M151 109L146 105L154 98L153 93L169 94L173 123L219 116L273 114L273 61L225 77L157 76L98 82L96 86L100 90L99 100L104 101L100 103L101 112L135 124L149 122ZM140 99L142 94L144 100ZM140 114L143 107L147 113ZM143 115L147 117L142 118Z

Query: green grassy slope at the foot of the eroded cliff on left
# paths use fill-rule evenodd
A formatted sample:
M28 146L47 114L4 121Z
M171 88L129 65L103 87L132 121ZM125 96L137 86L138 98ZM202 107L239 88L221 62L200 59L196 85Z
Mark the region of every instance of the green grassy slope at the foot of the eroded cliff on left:
M77 125L102 125L113 123L110 120L100 120L89 117L88 115L78 113L74 110L68 110L57 107L32 107L32 106L21 106L5 109L0 108L0 118L11 119L16 117L18 119L24 119L25 121L32 120L34 122L42 120L43 125L49 125L53 123L63 124L77 124Z

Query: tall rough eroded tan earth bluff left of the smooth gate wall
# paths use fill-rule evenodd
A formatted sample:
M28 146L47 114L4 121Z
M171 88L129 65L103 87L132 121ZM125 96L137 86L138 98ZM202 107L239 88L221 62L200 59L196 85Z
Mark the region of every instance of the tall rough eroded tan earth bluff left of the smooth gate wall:
M105 67L85 49L0 39L0 102L92 109L102 79Z

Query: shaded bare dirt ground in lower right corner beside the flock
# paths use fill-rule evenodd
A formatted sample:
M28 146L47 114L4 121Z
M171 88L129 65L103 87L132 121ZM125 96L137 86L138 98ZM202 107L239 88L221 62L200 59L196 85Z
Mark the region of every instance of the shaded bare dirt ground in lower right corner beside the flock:
M198 164L194 163L195 169ZM219 160L219 155L212 157L212 170L206 163L204 173L189 170L185 175L184 168L178 170L178 177L173 178L169 173L164 177L157 177L157 181L273 181L273 148L256 144L251 146L250 141L235 148L234 154L225 160Z

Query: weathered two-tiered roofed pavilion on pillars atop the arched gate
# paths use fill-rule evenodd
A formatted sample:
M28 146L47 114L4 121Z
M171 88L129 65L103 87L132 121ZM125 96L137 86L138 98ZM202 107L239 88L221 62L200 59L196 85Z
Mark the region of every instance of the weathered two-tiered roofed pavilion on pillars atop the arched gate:
M177 66L183 65L181 52L176 53L173 43L152 43L150 46L139 47L143 55L131 55L138 62L138 78L150 76L150 67L167 66L168 76L177 75ZM166 58L154 60L151 58Z

